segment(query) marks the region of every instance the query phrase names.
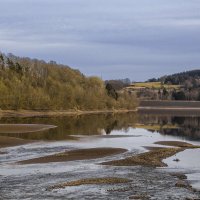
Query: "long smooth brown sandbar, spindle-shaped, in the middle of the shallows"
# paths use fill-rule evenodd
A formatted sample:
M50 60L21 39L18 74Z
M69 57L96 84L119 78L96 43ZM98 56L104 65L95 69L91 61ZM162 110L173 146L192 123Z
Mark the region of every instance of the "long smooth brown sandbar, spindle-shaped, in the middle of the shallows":
M39 163L50 163L50 162L87 160L87 159L103 158L110 155L124 153L126 151L127 151L126 149L122 149L122 148L78 149L78 150L66 151L59 154L49 155L45 157L24 160L18 163L19 164L37 164L37 163L39 164Z

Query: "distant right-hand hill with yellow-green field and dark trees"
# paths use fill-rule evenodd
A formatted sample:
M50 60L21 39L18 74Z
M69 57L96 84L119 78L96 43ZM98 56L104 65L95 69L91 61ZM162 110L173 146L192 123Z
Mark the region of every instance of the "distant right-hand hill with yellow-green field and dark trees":
M123 88L140 100L200 101L200 70L192 70L135 82Z

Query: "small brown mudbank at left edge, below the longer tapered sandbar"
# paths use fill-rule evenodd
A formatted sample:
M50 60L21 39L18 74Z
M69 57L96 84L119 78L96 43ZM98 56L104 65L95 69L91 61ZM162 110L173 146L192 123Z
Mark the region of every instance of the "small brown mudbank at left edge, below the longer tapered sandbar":
M23 140L19 138L0 136L0 149L12 146L19 146L34 142L33 140Z

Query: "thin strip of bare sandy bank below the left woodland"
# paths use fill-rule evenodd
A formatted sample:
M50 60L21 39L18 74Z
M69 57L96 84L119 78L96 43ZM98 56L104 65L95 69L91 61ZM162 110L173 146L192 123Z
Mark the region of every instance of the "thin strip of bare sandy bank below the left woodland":
M86 114L128 113L137 112L137 109L112 110L0 110L0 117L51 117Z

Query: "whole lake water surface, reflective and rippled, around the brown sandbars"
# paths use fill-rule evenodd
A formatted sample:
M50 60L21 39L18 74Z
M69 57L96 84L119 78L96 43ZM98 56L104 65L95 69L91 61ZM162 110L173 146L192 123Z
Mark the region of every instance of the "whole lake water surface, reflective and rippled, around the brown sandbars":
M200 145L200 117L157 114L100 114L68 117L1 118L0 124L48 124L57 128L32 133L1 133L1 136L36 142L1 149L0 197L2 199L126 199L148 194L152 199L197 198L199 194L171 185L169 172L183 172L200 189L200 150L185 150L164 160L167 168L141 166L113 167L98 163L147 151L157 141L184 141ZM93 147L125 148L123 154L101 159L34 165L17 161L46 156L65 150ZM178 158L179 162L174 162ZM132 183L68 187L50 192L46 188L87 177L127 177ZM0 198L0 199L1 199Z

